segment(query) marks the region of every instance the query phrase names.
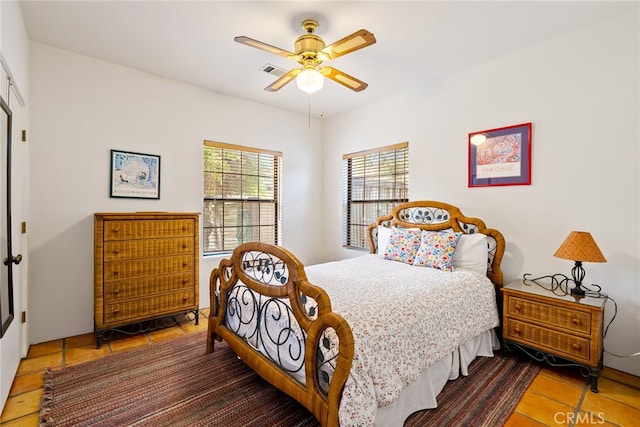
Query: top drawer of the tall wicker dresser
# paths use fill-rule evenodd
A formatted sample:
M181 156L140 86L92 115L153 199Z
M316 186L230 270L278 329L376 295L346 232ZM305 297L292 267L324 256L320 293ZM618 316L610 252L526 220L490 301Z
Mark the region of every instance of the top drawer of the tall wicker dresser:
M105 221L104 241L127 239L153 239L188 237L196 232L196 223L190 219L180 220L128 220Z

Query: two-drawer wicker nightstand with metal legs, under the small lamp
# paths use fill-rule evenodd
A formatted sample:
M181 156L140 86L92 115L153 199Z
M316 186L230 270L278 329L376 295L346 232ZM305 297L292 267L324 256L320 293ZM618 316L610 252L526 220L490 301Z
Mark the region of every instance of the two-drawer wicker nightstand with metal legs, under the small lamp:
M506 352L517 347L553 366L587 368L597 393L606 298L556 295L529 283L518 280L502 288Z

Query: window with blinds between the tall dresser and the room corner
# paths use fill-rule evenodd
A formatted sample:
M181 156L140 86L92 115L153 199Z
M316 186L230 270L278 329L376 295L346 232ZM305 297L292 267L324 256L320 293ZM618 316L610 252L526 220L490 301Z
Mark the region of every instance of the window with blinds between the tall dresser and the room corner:
M280 243L282 153L204 142L203 252Z

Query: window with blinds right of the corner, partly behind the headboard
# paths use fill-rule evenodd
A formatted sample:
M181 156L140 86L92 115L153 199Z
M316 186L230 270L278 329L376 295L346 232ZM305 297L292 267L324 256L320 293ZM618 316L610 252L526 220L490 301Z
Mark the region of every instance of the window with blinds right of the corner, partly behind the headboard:
M342 164L343 245L368 248L369 224L408 201L409 143L345 154Z

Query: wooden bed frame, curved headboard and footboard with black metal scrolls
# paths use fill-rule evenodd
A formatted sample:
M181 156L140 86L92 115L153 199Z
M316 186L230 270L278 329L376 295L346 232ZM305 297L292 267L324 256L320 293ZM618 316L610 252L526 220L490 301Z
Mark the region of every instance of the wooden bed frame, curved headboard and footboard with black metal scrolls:
M505 241L499 231L486 228L482 220L466 217L457 207L443 202L404 203L393 209L391 214L378 218L369 226L371 253L376 253L377 250L378 226L485 234L489 246L487 276L496 287L496 296L499 298L503 284L500 262L504 254ZM297 322L306 337L304 349L301 349L304 354L304 383L285 372L275 358L260 353L245 337L238 335L227 325L225 313L228 309L234 309L230 295L238 281L264 298L288 300L289 308L284 315L295 317L292 320ZM222 260L211 272L209 286L211 310L207 354L214 351L216 340L226 341L249 367L300 402L322 426L338 426L340 399L354 354L353 335L348 323L340 315L332 312L328 294L307 280L302 262L282 247L260 242L245 243L233 251L230 259ZM309 304L310 300L315 303ZM335 331L339 347L337 357L331 360L335 369L330 378L328 391L323 391L318 372L320 365L327 361L322 360L319 348L326 345L324 334L327 330Z

